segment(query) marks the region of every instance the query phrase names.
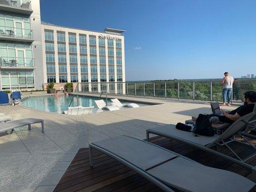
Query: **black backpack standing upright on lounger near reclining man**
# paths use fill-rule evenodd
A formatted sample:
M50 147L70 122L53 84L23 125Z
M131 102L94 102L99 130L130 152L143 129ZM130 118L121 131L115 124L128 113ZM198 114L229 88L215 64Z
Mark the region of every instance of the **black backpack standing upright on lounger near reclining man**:
M205 136L213 136L215 134L211 126L209 115L199 114L198 118L195 121L194 133Z

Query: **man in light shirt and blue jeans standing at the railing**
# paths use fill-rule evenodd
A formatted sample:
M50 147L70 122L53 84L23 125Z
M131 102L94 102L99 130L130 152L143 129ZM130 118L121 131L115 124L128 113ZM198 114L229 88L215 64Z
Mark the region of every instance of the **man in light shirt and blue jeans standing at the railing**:
M232 84L234 83L234 78L230 76L229 72L224 72L224 77L221 81L222 84L222 97L223 104L221 106L226 106L226 95L228 95L228 106L231 106L231 94L232 94Z

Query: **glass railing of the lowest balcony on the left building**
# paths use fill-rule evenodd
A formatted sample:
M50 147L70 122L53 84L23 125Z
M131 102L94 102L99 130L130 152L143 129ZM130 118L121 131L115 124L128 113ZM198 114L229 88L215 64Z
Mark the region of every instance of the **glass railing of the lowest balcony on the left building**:
M1 57L1 67L34 67L34 58L24 57Z

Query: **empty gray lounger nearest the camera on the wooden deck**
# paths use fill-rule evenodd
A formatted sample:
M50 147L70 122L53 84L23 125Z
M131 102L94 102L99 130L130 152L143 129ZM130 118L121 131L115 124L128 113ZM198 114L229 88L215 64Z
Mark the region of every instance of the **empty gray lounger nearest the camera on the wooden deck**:
M89 144L132 168L165 192L249 192L255 183L231 171L210 168L158 145L129 136Z

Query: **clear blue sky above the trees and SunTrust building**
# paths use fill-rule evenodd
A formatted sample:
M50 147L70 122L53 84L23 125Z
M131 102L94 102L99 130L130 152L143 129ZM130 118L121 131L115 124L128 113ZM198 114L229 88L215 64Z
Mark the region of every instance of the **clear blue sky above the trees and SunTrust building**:
M41 20L125 30L126 80L256 74L256 0L41 0Z

